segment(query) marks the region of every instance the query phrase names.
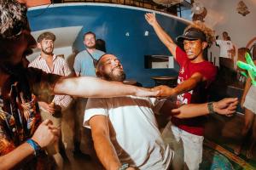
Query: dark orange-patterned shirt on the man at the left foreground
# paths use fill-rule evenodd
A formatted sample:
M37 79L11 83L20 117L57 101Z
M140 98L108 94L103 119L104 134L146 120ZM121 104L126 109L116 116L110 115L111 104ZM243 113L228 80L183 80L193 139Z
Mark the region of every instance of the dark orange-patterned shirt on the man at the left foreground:
M3 84L0 95L0 156L32 137L41 123L37 99L50 98L59 77L38 69L20 69L18 76L10 76ZM48 170L54 166L52 157L42 153L26 158L15 169Z

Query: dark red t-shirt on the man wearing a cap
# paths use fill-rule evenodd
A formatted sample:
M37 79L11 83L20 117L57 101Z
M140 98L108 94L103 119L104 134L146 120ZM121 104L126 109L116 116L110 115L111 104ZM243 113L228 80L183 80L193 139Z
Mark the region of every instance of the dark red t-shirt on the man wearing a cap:
M196 104L205 103L207 101L207 88L215 79L217 69L211 62L202 61L200 63L191 63L187 54L181 49L176 48L176 60L180 66L177 77L177 84L189 79L195 72L201 73L207 79L205 82L199 82L195 88L177 96L177 103L179 104ZM172 117L172 124L183 129L188 133L203 136L204 133L204 116L195 118L179 119Z

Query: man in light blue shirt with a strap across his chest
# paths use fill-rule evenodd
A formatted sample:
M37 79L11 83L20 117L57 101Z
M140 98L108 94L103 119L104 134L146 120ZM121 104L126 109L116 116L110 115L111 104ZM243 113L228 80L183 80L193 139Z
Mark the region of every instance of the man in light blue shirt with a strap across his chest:
M104 52L96 49L96 35L92 31L88 31L84 33L84 47L85 49L77 54L73 68L76 72L77 77L96 77L94 63L97 59L99 59ZM86 141L87 146L83 148L90 148L88 144L90 144L90 130L84 129L82 126L82 120L85 110L85 105L87 104L87 99L79 98L76 99L76 115L75 115L75 123L74 123L74 156L83 156L84 158L90 158L87 154L83 154L80 150L80 143L82 141ZM85 139L83 138L85 136Z

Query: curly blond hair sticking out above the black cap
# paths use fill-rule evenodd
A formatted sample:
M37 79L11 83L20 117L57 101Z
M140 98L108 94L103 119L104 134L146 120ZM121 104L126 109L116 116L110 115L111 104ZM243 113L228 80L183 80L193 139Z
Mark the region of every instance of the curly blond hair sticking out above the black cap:
M188 31L191 28L196 28L196 29L204 32L204 34L207 37L208 47L211 47L212 42L215 41L215 37L214 37L215 32L211 28L208 28L201 21L194 21L191 25L189 25L185 28L184 32Z

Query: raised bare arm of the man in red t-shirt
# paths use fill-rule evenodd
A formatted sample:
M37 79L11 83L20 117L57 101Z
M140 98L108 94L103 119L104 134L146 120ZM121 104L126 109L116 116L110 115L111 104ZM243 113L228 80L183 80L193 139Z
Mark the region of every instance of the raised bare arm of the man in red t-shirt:
M163 42L169 51L172 53L174 58L176 58L176 48L177 45L172 41L172 38L163 30L155 18L155 14L147 13L145 14L145 19L148 21L148 24L153 26L156 35L160 38L160 41Z

